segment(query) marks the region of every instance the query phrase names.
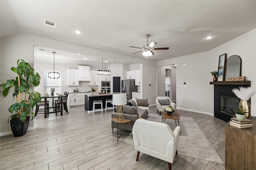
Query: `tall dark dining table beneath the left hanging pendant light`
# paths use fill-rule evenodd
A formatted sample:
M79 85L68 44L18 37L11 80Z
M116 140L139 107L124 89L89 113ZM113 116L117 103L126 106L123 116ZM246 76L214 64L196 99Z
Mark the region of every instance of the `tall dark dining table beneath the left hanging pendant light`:
M60 115L62 116L63 115L63 105L62 105L62 101L63 101L63 98L66 97L66 95L64 94L54 94L53 96L49 95L49 94L46 94L46 95L42 95L41 98L44 99L44 118L47 118L47 114L48 113L58 113L60 112ZM47 113L47 99L49 98L52 98L52 107L49 107L49 109L54 109L53 111L49 111ZM55 109L54 107L54 98L58 98L60 99L60 111L57 110L57 108Z

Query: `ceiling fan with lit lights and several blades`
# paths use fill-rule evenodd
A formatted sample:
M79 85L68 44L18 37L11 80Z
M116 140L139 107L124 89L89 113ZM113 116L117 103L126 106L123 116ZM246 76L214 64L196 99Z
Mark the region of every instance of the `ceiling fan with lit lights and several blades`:
M152 48L154 47L154 45L156 45L156 42L151 42L150 45L148 45L148 37L150 35L149 34L146 34L145 37L147 37L147 45L144 45L143 48L140 48L140 47L133 47L133 46L129 46L129 47L133 47L133 48L137 48L137 49L141 49L141 51L138 51L136 53L140 53L142 51L144 51L142 53L142 55L145 56L145 58L148 59L148 56L152 56L154 55L155 53L153 52L153 50L168 50L169 47L165 47L165 48ZM136 53L132 53L132 54L136 54Z

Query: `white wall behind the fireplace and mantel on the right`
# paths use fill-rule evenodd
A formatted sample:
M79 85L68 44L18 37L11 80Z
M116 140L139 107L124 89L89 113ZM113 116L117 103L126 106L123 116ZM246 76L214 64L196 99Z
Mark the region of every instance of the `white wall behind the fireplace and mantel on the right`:
M177 64L177 108L214 115L214 86L209 84L212 82L210 71L218 70L219 56L224 53L227 58L231 55L241 57L241 76L246 76L256 88L256 29L253 29L210 51L156 62L157 66ZM188 66L183 66L184 63ZM187 87L180 87L184 82ZM256 116L256 95L251 98L251 114Z

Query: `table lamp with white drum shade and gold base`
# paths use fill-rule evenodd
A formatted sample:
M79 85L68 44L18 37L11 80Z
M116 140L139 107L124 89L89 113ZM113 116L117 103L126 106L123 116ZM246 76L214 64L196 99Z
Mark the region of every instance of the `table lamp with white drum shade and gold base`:
M123 93L119 93L119 94L113 94L113 105L118 106L117 107L117 120L118 121L123 121L124 120L124 109L123 109L123 105L127 104L127 100L126 100L126 94Z

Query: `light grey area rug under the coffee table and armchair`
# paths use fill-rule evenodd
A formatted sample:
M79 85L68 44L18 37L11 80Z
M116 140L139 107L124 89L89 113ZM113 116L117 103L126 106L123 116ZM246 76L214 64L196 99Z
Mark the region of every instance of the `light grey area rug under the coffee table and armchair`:
M149 121L162 122L162 118L155 114L150 114L146 119ZM168 124L172 130L176 127L174 120L166 119L166 124ZM181 135L177 149L178 154L223 164L192 117L180 116L180 127ZM132 137L129 136L124 140L124 143L134 145Z

